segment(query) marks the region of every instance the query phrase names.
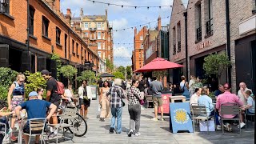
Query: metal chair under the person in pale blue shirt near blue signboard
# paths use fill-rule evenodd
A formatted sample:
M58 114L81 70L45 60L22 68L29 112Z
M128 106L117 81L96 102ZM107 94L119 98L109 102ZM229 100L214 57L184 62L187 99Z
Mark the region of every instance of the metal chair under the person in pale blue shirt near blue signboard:
M209 134L209 119L213 116L208 116L205 105L199 105L198 103L191 103L192 118L193 118L193 128L195 120L206 121L207 134Z

